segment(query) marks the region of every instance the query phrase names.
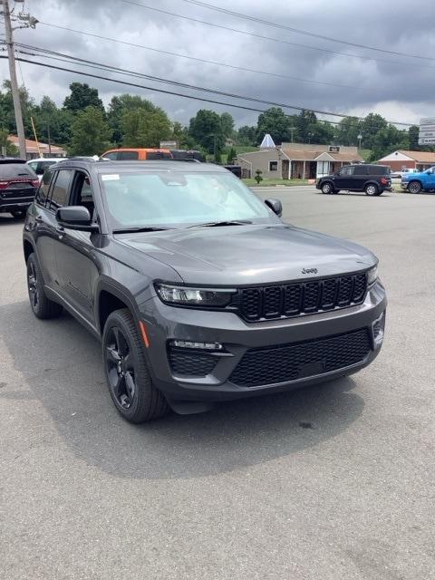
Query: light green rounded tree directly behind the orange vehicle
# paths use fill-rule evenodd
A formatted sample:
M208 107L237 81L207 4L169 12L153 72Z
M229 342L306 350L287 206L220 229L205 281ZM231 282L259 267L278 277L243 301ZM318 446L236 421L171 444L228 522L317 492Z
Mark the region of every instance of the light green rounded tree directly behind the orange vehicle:
M159 147L160 140L169 140L171 125L165 111L136 109L125 111L121 117L124 147Z

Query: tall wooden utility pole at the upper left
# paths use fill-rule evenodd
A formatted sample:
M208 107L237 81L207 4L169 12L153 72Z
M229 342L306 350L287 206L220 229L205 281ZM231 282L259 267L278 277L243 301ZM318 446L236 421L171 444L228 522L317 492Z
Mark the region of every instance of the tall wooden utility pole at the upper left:
M17 1L20 2L20 0ZM20 149L20 157L25 160L27 156L25 150L23 113L21 111L20 92L18 90L18 82L16 80L13 32L14 30L16 30L16 28L29 28L29 27L34 28L38 21L30 14L20 13L16 17L13 15L13 20L18 19L24 25L16 26L15 28L13 28L11 24L11 11L9 10L9 0L3 0L3 12L1 14L5 19L5 43L7 46L7 59L9 61L9 74L11 77L11 92L12 99L14 101L15 125L16 132L18 134L18 145Z

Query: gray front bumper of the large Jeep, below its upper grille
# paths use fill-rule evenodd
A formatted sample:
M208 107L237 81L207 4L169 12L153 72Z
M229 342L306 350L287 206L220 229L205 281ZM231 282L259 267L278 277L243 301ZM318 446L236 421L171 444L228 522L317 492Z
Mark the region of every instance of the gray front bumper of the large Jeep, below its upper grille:
M362 304L261 323L246 323L237 314L229 312L169 306L155 296L143 304L144 311L141 313L150 343L146 354L151 376L155 386L164 392L170 402L233 400L266 392L287 391L348 375L370 364L380 352L386 305L385 291L379 281L368 291ZM376 321L378 324L373 331ZM287 364L285 360L283 362L282 347L285 347L284 350L288 349L285 353L294 353L297 349L300 350L301 344L315 343L321 348L323 345L328 346L328 352L331 353L331 345L337 337L351 336L354 331L362 329L366 329L370 345L361 360L356 362L353 360L352 364L344 364L340 368L336 368L336 365L331 367L327 360L329 354L325 354L322 364L316 359L313 364L301 366L301 372L296 373L297 376L295 372L289 371L288 378L283 380L283 376L280 375L278 382L266 381L265 384L234 382L242 358L245 354L252 353L253 349L256 353L267 352L268 349L275 347L275 350L280 351L279 363L282 365ZM225 351L205 354L204 351L195 349L175 349L178 353L183 350L183 353L191 355L179 364L174 362L172 356L174 349L169 346L173 340L220 343L224 345ZM348 344L352 345L352 341L347 343L344 340L344 350L348 350ZM296 351L292 350L293 346ZM318 357L318 353L316 356ZM208 362L211 357L212 362L209 366L204 357L208 357ZM205 363L202 364L201 361ZM246 361L245 358L245 366ZM331 368L333 370L328 370ZM272 373L272 376L277 375Z

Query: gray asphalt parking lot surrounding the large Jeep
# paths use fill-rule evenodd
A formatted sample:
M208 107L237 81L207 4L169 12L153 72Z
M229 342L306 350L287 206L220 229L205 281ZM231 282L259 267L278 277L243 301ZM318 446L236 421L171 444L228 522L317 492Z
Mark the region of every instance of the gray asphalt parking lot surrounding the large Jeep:
M22 223L0 215L1 578L435 577L435 197L261 195L380 257L382 353L140 427L115 411L99 343L66 314L34 318Z

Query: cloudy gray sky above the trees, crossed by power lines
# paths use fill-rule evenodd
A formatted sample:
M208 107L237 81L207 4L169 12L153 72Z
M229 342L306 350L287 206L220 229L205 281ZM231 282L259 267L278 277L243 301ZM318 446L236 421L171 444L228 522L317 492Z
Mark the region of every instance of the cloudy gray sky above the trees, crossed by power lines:
M412 4L404 0L383 3L377 0L364 0L363 3L361 0L334 0L333 3L331 0L203 2L346 43L424 58L382 53L299 34L236 15L222 14L186 0L131 0L131 3L124 0L26 0L24 11L31 12L40 23L34 30L17 30L14 36L19 43L268 102L358 116L374 111L390 121L409 123L418 123L421 117L435 116L435 18L430 0L414 0ZM13 0L10 4L11 7L14 5ZM17 4L15 11L19 6L23 5ZM150 7L275 38L275 41L162 14L150 10ZM110 37L130 45L68 32L53 25ZM215 63L198 62L156 50ZM40 57L34 60L62 66L62 63ZM216 63L237 66L241 70ZM90 71L81 65L75 66L75 70ZM171 90L159 82L112 73L100 74ZM0 82L8 76L7 62L1 60ZM258 116L254 111L134 89L30 63L21 64L18 78L20 82L24 81L36 102L46 94L61 105L69 92L69 84L78 81L98 88L106 105L114 94L140 94L167 111L173 121L182 123L189 123L198 109L228 111L237 126L256 124ZM192 89L175 90L258 109L268 107L205 95ZM289 108L285 111L289 114L297 112ZM332 117L327 119L333 120Z

